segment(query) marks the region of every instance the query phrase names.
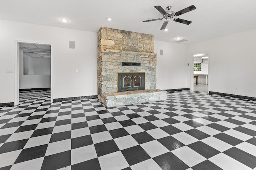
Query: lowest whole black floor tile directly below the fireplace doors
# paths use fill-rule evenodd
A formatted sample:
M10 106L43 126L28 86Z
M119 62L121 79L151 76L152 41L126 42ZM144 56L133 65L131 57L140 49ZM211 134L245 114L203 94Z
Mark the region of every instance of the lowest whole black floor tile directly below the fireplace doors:
M130 166L151 158L140 145L121 150L121 152Z

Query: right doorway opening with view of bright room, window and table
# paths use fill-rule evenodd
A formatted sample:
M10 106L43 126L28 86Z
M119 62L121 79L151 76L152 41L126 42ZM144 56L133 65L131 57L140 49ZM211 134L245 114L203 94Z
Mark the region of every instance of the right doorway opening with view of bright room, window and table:
M190 90L209 93L209 52L192 54L191 66Z

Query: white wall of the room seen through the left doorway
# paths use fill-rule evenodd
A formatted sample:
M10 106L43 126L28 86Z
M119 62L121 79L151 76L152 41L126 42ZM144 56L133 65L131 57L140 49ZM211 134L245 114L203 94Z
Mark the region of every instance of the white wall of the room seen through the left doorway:
M20 89L25 89L25 88L50 88L51 86L51 76L50 75L31 75L34 74L34 58L30 56L26 56L28 59L28 67L30 68L29 71L31 74L23 74L23 51L20 50ZM50 60L50 59L47 59ZM44 60L45 61L45 60ZM37 62L36 62L37 63ZM42 61L41 61L42 63ZM45 64L48 63L48 66L50 66L50 63L45 61ZM44 64L44 65L45 65ZM41 66L39 67L41 68ZM49 69L50 70L50 69Z

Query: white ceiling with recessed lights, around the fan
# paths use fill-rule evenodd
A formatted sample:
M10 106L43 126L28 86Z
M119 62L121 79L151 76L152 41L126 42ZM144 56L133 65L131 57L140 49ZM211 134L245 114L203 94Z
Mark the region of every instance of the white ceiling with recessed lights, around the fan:
M92 32L103 26L153 34L158 41L188 40L182 44L256 28L256 0L1 0L0 4L3 20ZM178 16L192 21L190 25L170 21L164 31L160 30L164 20L142 22L162 17L154 8L158 5L164 9L171 5L174 12L191 5L197 9Z

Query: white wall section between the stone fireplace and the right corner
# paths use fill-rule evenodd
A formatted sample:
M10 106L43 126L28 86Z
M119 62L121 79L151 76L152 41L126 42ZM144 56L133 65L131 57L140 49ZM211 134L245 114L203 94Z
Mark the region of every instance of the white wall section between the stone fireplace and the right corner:
M163 55L160 55L163 50ZM189 88L187 85L187 45L154 41L157 53L156 88L161 90Z

